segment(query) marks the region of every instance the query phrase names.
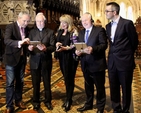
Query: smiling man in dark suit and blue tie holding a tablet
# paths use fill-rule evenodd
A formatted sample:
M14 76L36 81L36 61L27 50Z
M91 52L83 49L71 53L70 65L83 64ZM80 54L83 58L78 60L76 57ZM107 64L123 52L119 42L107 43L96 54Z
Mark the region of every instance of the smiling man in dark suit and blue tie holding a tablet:
M79 42L87 44L83 51L76 50L76 54L81 57L81 68L85 78L86 103L77 111L82 112L93 108L94 85L96 87L97 113L103 113L106 94L105 94L105 69L107 48L107 37L105 29L93 25L90 13L85 13L82 18L83 30L79 32ZM87 32L89 31L89 32ZM87 35L88 33L88 35ZM88 38L88 39L87 39Z

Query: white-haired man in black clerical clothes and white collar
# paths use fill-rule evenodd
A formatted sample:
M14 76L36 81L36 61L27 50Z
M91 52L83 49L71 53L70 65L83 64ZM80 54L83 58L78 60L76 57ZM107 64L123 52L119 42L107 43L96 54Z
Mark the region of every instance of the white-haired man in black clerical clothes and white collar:
M40 108L40 82L41 77L45 88L45 106L52 110L51 96L51 70L52 52L55 51L55 35L53 30L45 27L46 18L38 13L35 18L36 27L30 31L31 41L40 41L40 44L29 45L30 69L33 84L33 109Z

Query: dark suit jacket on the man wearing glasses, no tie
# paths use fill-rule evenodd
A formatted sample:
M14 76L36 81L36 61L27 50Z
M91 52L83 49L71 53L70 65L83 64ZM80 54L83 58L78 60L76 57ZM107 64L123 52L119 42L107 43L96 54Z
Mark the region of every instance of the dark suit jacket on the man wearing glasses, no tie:
M134 52L138 46L138 35L133 22L120 17L114 36L111 42L111 23L106 25L110 47L108 55L108 69L111 70L115 63L119 71L128 71L135 68Z

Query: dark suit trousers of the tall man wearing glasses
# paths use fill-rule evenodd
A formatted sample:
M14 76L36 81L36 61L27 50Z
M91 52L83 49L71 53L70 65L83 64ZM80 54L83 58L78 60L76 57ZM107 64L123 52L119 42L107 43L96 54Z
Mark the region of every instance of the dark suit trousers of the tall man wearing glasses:
M128 112L131 103L131 85L133 79L133 70L118 71L116 67L108 70L110 82L110 95L114 111ZM122 102L121 93L122 91Z

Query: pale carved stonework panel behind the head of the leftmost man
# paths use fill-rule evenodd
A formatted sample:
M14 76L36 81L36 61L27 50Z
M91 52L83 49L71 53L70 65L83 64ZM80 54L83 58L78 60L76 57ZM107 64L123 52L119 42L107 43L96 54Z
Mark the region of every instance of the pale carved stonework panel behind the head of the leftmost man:
M27 0L0 1L0 25L16 21L17 15L21 11L28 11L30 13L30 24L33 24L36 15L36 8L34 7L34 4L28 4Z

